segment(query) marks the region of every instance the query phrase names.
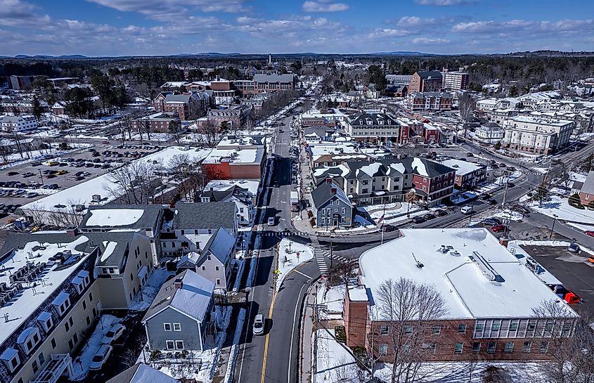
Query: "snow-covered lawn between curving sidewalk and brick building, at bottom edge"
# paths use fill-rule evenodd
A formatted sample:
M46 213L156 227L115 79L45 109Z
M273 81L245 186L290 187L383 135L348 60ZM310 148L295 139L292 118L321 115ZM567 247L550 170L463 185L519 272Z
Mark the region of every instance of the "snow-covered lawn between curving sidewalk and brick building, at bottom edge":
M341 346L332 337L334 330L316 330L316 332L318 337L316 382L365 382L360 379L364 372L357 366L353 354L347 350L346 345ZM311 337L311 343L314 344L314 334Z

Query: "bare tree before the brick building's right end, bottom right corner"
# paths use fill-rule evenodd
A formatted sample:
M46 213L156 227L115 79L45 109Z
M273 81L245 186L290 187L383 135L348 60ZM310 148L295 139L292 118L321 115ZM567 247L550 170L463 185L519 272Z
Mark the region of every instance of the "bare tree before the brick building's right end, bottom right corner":
M591 318L576 317L563 301L543 301L533 309L538 318L536 330L540 332L541 352L550 363L538 363L541 379L550 383L594 382L594 333ZM541 380L543 381L543 380Z

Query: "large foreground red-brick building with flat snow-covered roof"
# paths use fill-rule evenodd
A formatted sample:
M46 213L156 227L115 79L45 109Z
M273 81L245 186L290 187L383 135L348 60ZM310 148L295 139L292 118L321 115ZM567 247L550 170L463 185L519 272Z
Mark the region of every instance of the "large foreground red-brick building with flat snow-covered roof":
M364 252L359 273L359 285L344 297L347 345L380 361L392 361L394 332L417 335L411 347L426 361L548 359L553 335L571 336L578 318L486 228L403 229L400 238ZM424 321L385 315L380 289L399 278L432 285L446 313ZM534 315L543 301L558 305L555 318Z

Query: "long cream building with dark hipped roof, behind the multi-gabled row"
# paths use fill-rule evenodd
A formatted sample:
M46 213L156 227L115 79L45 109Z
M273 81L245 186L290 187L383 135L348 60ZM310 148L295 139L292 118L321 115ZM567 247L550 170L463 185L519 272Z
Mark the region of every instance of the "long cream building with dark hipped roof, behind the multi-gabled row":
M359 142L396 142L400 134L400 124L386 113L357 112L347 117L344 131Z

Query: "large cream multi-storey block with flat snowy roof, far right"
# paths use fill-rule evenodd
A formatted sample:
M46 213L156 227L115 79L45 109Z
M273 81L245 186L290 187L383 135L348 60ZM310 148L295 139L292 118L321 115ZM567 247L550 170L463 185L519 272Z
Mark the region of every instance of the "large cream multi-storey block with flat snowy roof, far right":
M521 152L550 155L569 144L574 122L519 116L505 120L503 146Z

